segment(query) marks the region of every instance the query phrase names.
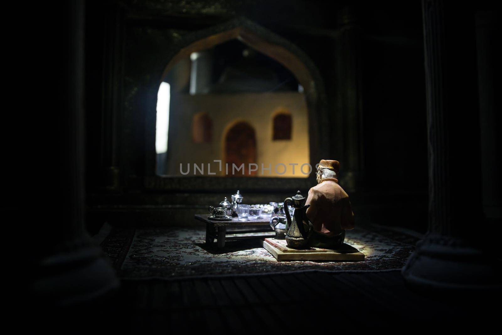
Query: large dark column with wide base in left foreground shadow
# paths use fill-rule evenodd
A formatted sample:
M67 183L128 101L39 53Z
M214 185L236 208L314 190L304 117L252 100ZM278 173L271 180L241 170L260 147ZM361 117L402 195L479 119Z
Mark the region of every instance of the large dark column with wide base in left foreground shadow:
M25 208L17 216L30 239L23 248L32 255L32 297L44 308L89 301L118 287L85 229L84 2L68 2L58 10L64 15L44 16L47 24L39 32L50 50L41 56L42 71L52 76L45 76L37 101L50 106L51 113L44 114L46 126L37 124L38 164L32 174L37 182L23 189Z

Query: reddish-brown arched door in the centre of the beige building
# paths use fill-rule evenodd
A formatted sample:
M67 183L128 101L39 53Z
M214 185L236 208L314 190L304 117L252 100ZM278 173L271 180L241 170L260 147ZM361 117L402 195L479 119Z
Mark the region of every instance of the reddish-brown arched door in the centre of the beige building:
M232 164L238 167L244 164L242 171L235 171L233 176L256 176L258 171L249 174L249 163L256 163L256 135L255 130L246 122L233 125L225 135L225 162L228 163L228 175L232 176Z

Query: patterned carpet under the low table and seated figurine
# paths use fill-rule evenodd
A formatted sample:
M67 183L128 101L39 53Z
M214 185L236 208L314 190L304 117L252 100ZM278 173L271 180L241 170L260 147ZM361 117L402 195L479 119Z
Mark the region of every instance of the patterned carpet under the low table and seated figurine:
M180 278L270 274L295 271L386 271L401 269L415 238L385 229L348 231L345 243L361 251L362 262L278 262L261 240L227 242L207 248L205 231L195 229L117 229L101 246L121 278Z

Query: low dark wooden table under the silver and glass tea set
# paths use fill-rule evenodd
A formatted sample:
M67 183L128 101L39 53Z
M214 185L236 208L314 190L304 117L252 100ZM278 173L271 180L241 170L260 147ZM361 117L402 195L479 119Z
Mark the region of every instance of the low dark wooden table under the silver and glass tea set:
M206 224L206 244L211 245L216 239L218 248L223 248L226 241L273 238L276 232L270 227L270 218L239 221L233 217L230 221L210 220L210 214L195 214L195 219Z

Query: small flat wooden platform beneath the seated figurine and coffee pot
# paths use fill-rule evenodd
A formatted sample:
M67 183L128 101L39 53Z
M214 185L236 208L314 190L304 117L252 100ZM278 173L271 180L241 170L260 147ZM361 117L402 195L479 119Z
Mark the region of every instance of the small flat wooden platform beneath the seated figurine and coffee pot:
M286 240L265 239L263 247L278 261L364 261L363 253L345 243L339 250L296 250L289 248Z

